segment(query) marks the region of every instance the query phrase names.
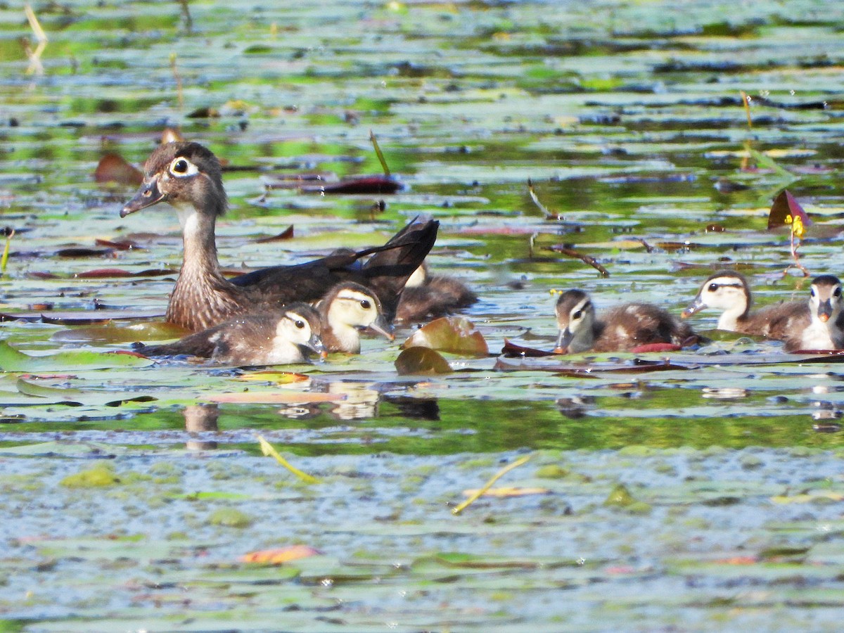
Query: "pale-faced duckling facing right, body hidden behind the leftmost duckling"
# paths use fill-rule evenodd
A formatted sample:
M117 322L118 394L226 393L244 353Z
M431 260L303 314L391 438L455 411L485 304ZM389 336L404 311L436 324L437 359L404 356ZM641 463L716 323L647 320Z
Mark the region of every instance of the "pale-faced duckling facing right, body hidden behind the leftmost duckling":
M360 354L361 327L369 327L389 340L396 337L381 313L376 294L360 284L337 284L317 303L322 317L322 343L329 352Z

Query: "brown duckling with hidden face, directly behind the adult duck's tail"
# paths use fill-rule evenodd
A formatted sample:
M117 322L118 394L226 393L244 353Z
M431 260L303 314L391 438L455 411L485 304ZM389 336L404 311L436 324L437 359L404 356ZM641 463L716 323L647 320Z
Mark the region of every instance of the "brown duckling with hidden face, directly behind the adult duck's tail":
M404 284L396 320L407 323L442 317L471 306L477 300L478 295L459 279L430 276L428 266L423 262Z

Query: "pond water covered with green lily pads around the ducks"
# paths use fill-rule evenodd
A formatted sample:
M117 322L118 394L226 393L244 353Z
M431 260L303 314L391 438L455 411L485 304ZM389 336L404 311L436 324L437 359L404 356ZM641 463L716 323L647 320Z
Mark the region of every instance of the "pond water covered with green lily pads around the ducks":
M230 4L34 5L37 59L0 8L0 312L32 317L0 325L0 631L836 630L838 357L707 312L668 367L496 356L553 346L557 289L676 314L728 267L760 305L803 300L767 230L785 187L814 220L802 265L844 272L844 5ZM121 219L134 187L93 176L165 127L231 167L227 270L427 215L492 354L400 376L409 327L273 374L106 354L173 334L175 214ZM400 192L269 187L381 173L371 131ZM121 318L68 322L97 314ZM525 456L495 486L533 494L452 513ZM242 560L295 544L316 551Z

